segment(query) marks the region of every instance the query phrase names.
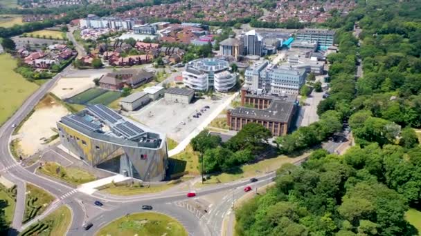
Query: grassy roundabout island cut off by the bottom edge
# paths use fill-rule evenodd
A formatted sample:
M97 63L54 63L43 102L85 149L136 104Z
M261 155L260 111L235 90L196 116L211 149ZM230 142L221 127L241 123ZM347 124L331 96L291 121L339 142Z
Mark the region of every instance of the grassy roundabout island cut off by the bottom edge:
M187 236L187 231L176 219L167 215L136 213L111 222L96 235Z

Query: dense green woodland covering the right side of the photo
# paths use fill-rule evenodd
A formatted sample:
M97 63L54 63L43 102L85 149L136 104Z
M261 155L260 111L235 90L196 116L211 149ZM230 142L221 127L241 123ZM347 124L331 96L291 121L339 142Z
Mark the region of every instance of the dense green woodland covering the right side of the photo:
M238 235L418 235L404 213L421 208L420 19L420 1L379 0L325 23L337 28L339 53L328 57L321 121L277 142L283 153L320 144L321 123L334 115L349 122L356 146L280 168L273 188L236 211ZM355 79L359 57L364 75Z

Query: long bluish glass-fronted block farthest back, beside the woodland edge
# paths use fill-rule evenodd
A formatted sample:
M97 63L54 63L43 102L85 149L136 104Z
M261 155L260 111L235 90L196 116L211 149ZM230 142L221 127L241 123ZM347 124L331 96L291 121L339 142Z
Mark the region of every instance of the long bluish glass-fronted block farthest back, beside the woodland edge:
M327 29L310 29L305 28L298 30L296 33L297 40L316 41L319 48L327 49L333 45L334 31Z

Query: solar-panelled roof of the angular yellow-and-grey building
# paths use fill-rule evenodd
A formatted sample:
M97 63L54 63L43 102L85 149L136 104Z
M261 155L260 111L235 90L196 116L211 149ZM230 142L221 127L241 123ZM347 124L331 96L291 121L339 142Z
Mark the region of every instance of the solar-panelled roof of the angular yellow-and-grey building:
M62 117L59 122L89 137L127 146L158 148L164 136L102 104L89 105L76 114Z

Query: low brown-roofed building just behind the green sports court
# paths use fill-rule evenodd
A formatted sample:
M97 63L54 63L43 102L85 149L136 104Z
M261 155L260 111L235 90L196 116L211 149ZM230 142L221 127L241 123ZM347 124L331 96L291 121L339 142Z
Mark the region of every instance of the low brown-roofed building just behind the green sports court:
M120 70L109 72L100 78L100 88L121 90L124 87L138 88L149 82L154 74L145 70Z

